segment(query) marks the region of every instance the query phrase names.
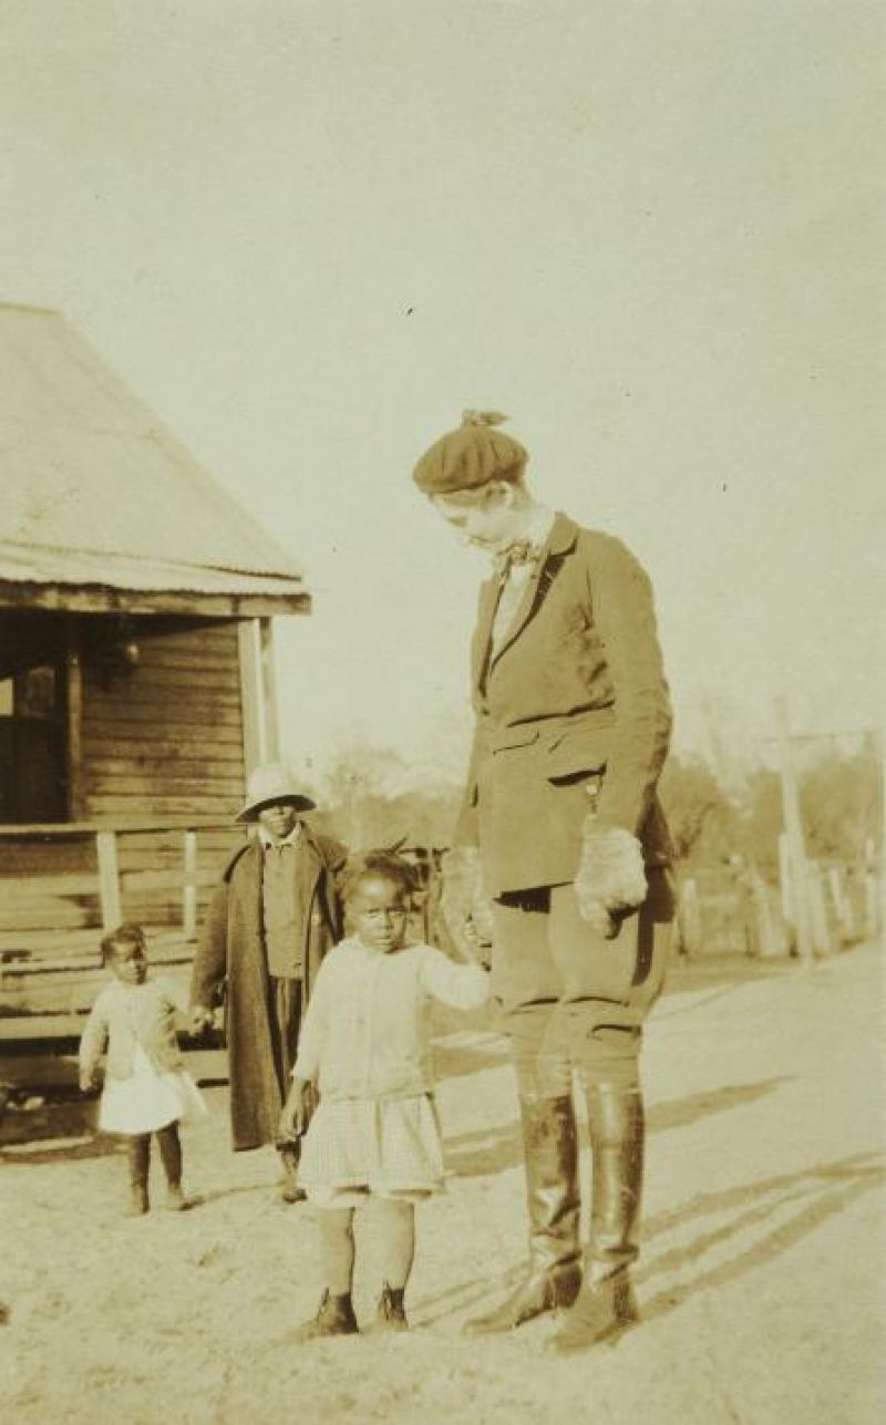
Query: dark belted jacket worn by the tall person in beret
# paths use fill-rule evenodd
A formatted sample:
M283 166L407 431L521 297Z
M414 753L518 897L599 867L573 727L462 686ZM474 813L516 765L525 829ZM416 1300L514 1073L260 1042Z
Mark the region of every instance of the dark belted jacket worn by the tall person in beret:
M454 838L480 846L487 893L571 881L591 807L665 864L655 785L671 704L647 574L620 540L557 514L493 657L497 598L493 577L471 646L477 724Z

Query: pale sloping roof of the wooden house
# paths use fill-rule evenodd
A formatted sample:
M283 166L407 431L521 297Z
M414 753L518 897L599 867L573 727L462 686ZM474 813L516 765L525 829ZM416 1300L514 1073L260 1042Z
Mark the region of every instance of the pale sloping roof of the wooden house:
M289 553L58 314L0 304L0 580L305 600Z

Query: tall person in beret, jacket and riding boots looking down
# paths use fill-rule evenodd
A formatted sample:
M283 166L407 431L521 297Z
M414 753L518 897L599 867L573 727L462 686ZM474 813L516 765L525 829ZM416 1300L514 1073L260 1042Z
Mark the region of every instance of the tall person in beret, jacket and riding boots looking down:
M574 1349L637 1320L640 1046L675 909L655 795L671 708L645 573L617 539L533 497L527 452L497 429L501 419L467 412L413 472L439 514L494 561L471 646L476 735L443 908L474 953L491 899L530 1261L469 1330L568 1307L551 1345ZM584 1271L574 1077L593 1147Z

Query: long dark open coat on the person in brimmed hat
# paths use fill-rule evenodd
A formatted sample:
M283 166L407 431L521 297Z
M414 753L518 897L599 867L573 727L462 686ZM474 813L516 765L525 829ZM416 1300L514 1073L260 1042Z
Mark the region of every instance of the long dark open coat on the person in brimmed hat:
M342 902L336 875L346 851L302 824L311 851L303 858L303 995L311 995L320 960L342 939ZM231 1136L234 1150L256 1149L276 1140L282 1107L271 1040L271 985L262 938L261 842L252 841L229 861L204 921L191 1005L225 1006L231 1076Z

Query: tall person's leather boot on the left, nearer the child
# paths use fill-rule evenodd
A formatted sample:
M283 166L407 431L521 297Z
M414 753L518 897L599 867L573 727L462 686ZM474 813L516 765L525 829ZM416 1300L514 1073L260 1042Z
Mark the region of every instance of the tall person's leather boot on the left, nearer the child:
M543 1311L568 1307L581 1285L578 1139L571 1094L520 1102L530 1260L494 1311L474 1317L474 1335L511 1331Z

